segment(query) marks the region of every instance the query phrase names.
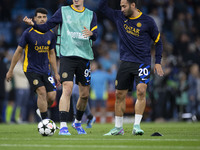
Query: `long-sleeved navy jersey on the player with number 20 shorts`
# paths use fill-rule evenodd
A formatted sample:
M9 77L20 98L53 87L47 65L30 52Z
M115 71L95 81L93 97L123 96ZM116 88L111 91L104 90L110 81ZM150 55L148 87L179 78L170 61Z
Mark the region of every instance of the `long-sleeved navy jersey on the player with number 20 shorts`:
M162 41L155 21L148 15L140 12L135 18L127 18L120 10L108 7L107 0L101 0L100 11L112 20L118 29L120 37L120 60L151 64L151 43L155 43L156 61L162 58Z

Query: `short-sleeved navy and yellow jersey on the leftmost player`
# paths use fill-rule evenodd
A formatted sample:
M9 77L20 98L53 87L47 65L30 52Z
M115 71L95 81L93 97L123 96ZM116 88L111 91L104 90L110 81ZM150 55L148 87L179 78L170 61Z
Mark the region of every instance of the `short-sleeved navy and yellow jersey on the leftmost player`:
M26 29L19 42L24 48L24 72L49 74L49 51L55 49L55 44L53 31L42 33L32 27Z

